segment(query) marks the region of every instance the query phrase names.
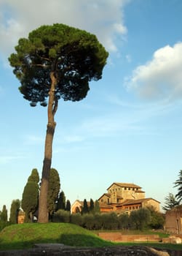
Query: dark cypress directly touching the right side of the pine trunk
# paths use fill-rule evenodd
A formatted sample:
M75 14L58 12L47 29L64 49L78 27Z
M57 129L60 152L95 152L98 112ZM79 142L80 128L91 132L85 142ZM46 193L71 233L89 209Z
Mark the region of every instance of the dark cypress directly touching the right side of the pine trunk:
M48 197L47 197L47 209L48 209L50 219L52 219L52 214L55 212L59 192L60 192L60 176L59 176L58 170L51 168Z

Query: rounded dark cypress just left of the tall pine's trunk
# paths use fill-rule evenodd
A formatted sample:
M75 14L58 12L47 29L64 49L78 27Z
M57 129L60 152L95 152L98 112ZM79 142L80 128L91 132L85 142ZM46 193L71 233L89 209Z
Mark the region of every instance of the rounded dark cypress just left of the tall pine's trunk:
M33 222L33 214L38 209L39 202L39 173L33 169L23 189L21 207L25 211L25 222Z

